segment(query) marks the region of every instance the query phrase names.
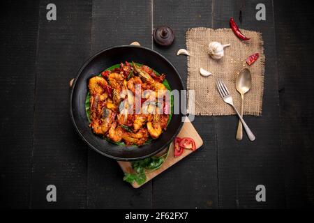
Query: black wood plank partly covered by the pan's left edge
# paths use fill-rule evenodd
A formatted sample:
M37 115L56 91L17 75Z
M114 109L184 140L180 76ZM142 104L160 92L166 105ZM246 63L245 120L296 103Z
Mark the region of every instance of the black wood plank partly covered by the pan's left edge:
M40 1L31 208L86 208L87 146L69 116L69 79L89 57L91 1ZM57 202L46 201L47 185Z

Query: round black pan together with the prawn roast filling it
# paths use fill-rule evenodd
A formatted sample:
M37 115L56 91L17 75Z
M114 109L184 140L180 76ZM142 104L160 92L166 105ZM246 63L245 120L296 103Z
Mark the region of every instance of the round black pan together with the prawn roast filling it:
M179 72L158 52L134 45L109 47L77 71L70 119L82 140L101 155L142 160L167 148L181 130L184 114L177 110L177 96L183 90Z

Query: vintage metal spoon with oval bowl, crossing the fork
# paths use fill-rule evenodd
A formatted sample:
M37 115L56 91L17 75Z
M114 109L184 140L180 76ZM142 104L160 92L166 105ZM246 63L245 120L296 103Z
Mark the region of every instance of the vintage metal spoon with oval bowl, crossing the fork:
M244 94L251 89L251 82L252 82L251 72L250 72L250 70L248 70L248 68L244 68L239 73L239 75L237 77L237 81L236 81L236 89L241 94L241 109L240 109L241 117L243 116ZM237 138L237 140L242 140L242 138L243 138L241 121L239 121L236 138Z

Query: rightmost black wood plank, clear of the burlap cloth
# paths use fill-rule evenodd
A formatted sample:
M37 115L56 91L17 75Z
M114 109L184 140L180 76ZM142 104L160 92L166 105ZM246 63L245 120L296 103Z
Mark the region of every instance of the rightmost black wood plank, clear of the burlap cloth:
M287 208L314 207L311 3L274 1Z

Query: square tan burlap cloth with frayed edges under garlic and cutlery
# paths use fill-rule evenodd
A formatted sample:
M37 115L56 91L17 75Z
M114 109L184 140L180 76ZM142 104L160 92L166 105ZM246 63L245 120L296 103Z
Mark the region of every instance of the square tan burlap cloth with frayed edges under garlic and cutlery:
M241 96L235 88L237 75L243 68L249 68L252 75L251 90L244 95L244 114L260 116L264 89L264 47L262 34L241 29L244 35L251 38L241 41L231 29L193 28L186 32L188 56L188 90L195 91L195 115L230 115L235 114L230 105L225 104L216 89L216 78L223 79L232 95L235 107L240 109ZM225 56L220 60L211 59L208 55L209 43L217 41L230 43L225 48ZM260 58L251 66L245 60L251 54L260 53ZM202 77L200 68L213 76ZM190 101L191 102L191 101Z

